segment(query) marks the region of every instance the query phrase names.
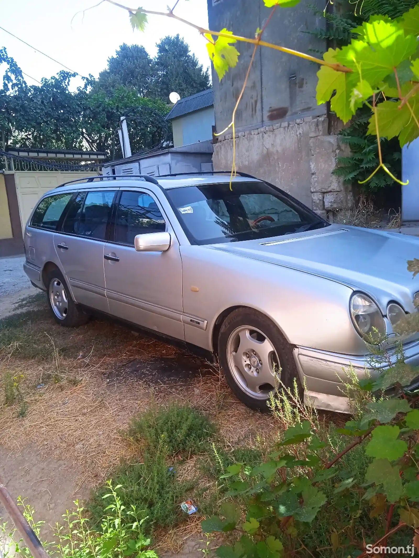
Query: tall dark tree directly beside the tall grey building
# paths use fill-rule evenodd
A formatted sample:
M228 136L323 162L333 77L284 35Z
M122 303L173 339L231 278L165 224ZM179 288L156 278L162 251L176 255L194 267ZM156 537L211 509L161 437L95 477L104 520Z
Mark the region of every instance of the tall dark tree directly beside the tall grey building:
M208 89L208 70L203 70L179 35L164 37L157 47L158 53L153 60L153 91L156 97L167 103L172 91L179 93L180 97L188 97Z

